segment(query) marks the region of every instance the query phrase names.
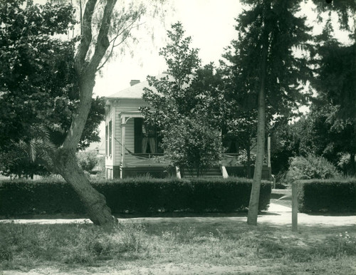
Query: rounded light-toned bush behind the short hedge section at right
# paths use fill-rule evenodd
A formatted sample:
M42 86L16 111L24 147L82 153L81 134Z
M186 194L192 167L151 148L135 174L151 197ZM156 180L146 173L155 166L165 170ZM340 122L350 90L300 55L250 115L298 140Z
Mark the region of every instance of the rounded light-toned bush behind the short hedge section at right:
M324 157L308 155L307 157L290 158L286 181L290 183L295 180L326 180L339 176L336 167Z

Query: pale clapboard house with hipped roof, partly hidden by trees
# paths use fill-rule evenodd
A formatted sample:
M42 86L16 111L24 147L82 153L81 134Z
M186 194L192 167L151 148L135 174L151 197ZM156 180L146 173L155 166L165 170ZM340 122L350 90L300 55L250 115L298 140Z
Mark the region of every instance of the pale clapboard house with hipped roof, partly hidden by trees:
M163 75L162 75L163 76ZM160 76L158 76L159 78ZM143 88L150 88L147 81L130 81L130 87L106 97L105 106L105 170L106 178L123 178L151 175L167 177L177 175L178 167L159 160L163 155L157 129L145 125L139 108L147 105L142 100ZM230 142L231 143L231 142ZM243 176L244 168L234 162L234 152L224 155L219 166L206 172L210 177ZM231 164L232 163L232 164ZM229 167L224 166L227 165ZM227 170L226 170L227 168ZM264 167L263 177L271 177L271 167ZM184 170L182 171L184 175ZM180 177L180 175L177 175Z

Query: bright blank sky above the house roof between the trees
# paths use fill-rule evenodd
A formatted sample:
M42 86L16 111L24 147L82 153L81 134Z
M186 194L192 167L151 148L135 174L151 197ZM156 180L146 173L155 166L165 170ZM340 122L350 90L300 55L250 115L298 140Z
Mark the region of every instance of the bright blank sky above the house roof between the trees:
M145 81L147 75L157 76L167 69L159 48L167 45L167 30L180 21L187 36L192 36L192 47L199 48L203 64L219 64L224 47L236 38L234 20L241 13L237 0L171 0L164 24L151 33L140 33L140 45L132 45L134 55L116 58L96 78L95 95L108 96L130 86L130 80ZM174 10L173 10L174 9ZM156 22L157 24L157 22ZM142 41L142 42L141 42Z

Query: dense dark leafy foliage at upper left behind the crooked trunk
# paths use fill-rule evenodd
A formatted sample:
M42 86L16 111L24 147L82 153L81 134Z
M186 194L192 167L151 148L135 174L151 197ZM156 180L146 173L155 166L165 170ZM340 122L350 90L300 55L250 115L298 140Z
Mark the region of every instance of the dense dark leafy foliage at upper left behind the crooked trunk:
M36 5L31 1L1 2L0 145L33 139L31 127L46 127L60 145L77 108L78 79L74 72L73 40L58 38L73 28L70 4ZM57 36L54 36L56 34ZM80 148L98 141L105 113L103 99L91 105Z

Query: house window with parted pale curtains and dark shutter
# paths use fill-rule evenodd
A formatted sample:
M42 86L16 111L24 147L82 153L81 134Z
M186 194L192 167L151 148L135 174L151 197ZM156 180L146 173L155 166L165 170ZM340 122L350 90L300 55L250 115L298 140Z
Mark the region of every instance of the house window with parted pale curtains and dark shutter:
M146 125L143 122L143 118L135 118L134 129L135 153L155 154L163 152L160 147L162 136L159 135L157 127Z

